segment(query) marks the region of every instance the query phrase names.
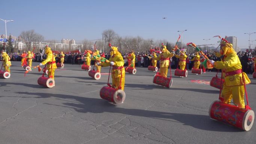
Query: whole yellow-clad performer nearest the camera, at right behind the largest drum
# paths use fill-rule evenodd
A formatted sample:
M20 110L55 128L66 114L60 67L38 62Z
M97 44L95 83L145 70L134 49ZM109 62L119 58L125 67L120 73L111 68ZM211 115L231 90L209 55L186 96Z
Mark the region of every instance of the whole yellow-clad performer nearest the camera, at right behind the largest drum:
M225 39L222 39L220 43L220 54L223 55L222 61L208 60L217 69L222 69L225 73L225 82L223 83L223 89L221 92L221 101L225 103L233 102L238 107L244 108L244 82L250 83L250 79L246 73L242 73L242 65L234 51L232 44L228 43Z

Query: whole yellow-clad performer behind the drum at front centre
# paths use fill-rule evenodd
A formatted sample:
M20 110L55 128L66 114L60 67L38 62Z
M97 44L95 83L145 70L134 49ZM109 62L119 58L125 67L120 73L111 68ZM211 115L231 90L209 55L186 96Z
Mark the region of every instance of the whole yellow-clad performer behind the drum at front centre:
M109 45L111 46L111 45ZM120 80L121 80L121 89L124 90L125 85L125 68L124 68L124 59L120 52L118 52L118 48L115 46L111 47L111 53L110 53L109 60L106 60L106 62L101 63L103 67L107 67L112 65L112 87L113 88L119 88L120 87Z

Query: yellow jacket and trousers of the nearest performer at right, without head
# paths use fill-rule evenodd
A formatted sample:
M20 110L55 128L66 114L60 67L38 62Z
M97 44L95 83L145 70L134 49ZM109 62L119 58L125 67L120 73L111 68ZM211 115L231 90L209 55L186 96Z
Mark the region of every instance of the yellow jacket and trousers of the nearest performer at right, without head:
M214 67L217 69L222 69L223 73L242 69L241 62L236 52L227 53L224 56L223 61L214 62ZM246 84L250 83L250 79L244 72L243 74L240 73L225 77L225 82L223 83L223 89L221 93L221 97L224 99L223 102L229 103L233 98L234 103L237 104L238 107L245 107L243 79Z

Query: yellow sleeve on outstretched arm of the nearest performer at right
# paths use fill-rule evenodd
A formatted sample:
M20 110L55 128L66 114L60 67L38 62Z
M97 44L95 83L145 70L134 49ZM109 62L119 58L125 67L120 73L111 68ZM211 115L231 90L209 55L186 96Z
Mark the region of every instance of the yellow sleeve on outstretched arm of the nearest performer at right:
M225 58L225 61L214 62L214 67L217 69L230 68L238 64L238 57L234 53Z

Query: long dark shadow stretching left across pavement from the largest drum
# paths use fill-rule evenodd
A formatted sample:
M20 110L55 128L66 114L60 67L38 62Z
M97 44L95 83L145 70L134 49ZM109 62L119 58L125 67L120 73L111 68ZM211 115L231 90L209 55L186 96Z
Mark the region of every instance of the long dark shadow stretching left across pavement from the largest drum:
M47 93L29 93L17 92L18 94L37 95L36 98L61 98L61 99L75 99L77 102L64 102L63 105L56 105L60 107L67 107L76 110L79 113L121 113L131 116L149 117L153 119L167 120L170 122L180 122L184 125L189 125L197 129L206 131L220 131L220 132L241 132L242 130L226 125L215 120L211 120L209 116L197 114L182 114L182 113L168 113L161 111L150 111L140 109L126 109L116 107L104 99L86 98L82 96L72 96L63 94L47 94ZM98 96L100 97L100 96ZM54 105L54 104L49 104ZM175 121L174 121L175 120Z

